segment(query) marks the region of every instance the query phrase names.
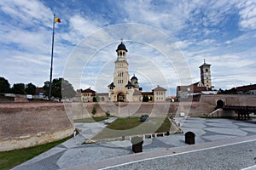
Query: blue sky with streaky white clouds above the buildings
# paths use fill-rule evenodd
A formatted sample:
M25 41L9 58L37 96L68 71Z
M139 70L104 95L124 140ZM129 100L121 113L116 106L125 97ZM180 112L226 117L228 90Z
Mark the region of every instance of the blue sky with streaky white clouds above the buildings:
M135 74L145 91L159 84L175 94L186 75L199 82L203 59L212 65L216 89L256 83L256 2L241 0L2 0L0 77L38 87L49 80L53 14L61 18L55 25L53 77L66 76L74 88L108 92L121 38L128 48L130 76ZM123 32L117 29L122 26ZM168 47L166 41L148 42L157 31L172 40ZM88 59L85 49L93 44L101 46Z

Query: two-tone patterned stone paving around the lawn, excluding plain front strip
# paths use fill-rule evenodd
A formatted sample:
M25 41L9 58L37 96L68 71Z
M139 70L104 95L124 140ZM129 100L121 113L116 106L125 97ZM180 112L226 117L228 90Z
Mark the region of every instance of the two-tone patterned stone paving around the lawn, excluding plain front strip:
M114 118L108 120L113 122ZM196 117L176 117L175 121L180 124L183 133L170 136L144 139L143 153L152 150L168 149L178 146L185 146L184 133L192 131L195 133L195 145L203 144L222 139L233 139L236 137L246 137L256 135L255 122L241 122L230 119L203 119ZM73 139L69 139L63 144L44 152L40 156L26 161L14 169L61 169L105 159L132 155L131 141L112 141L96 144L82 144L85 139L90 139L99 133L105 122L76 123L77 128L82 133ZM85 168L86 169L86 168Z

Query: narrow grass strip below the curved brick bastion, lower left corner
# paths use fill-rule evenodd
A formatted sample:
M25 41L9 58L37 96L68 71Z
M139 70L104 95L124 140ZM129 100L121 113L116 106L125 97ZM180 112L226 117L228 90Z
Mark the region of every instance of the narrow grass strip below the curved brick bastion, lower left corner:
M44 151L47 151L55 147L55 145L61 144L70 138L71 137L68 137L66 139L61 139L59 141L51 142L49 144L42 144L20 150L2 151L0 152L0 169L10 169L17 165L20 165L21 163L40 155Z

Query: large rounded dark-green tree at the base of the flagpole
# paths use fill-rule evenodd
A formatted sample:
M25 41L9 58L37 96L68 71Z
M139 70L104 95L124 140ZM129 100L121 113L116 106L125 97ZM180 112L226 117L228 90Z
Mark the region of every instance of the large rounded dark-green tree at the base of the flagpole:
M44 82L44 90L46 96L49 96L49 81ZM76 92L73 89L71 83L69 83L64 78L55 78L51 82L51 96L59 99L61 101L62 98L70 99L75 96Z

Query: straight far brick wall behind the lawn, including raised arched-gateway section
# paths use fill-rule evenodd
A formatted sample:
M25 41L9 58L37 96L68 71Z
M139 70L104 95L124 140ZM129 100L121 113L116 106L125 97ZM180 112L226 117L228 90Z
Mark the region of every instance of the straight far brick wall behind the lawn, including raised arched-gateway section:
M254 105L256 106L256 95L201 95L199 102L132 102L132 103L73 103L73 118L85 118L91 116L91 110L96 108L95 116L106 116L109 111L113 116L179 116L184 112L186 116L206 116L215 111L218 99L224 101L225 105ZM119 107L117 106L119 105ZM165 114L163 114L165 113ZM219 112L219 116L236 116L235 112Z

